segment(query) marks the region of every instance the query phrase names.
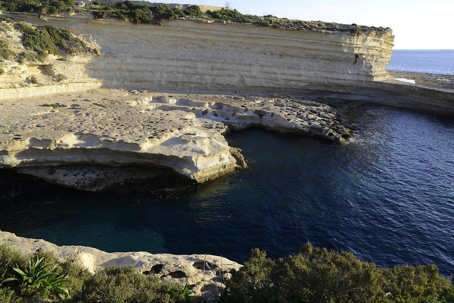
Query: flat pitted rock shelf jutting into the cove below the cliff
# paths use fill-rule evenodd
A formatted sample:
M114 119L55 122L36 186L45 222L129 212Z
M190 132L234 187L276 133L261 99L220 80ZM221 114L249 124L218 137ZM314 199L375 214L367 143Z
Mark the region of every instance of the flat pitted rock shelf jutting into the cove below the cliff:
M5 101L0 110L0 167L89 191L163 176L201 183L244 168L223 137L229 129L334 143L352 136L330 106L289 98L93 90Z

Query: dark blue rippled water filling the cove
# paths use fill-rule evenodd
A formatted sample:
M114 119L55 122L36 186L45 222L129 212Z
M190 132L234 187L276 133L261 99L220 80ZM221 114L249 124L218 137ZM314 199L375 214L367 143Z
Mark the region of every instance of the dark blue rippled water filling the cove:
M93 194L10 176L0 228L58 245L239 262L255 247L276 258L311 241L381 266L454 273L454 117L362 106L351 119L360 131L345 146L233 134L249 168L182 192Z

